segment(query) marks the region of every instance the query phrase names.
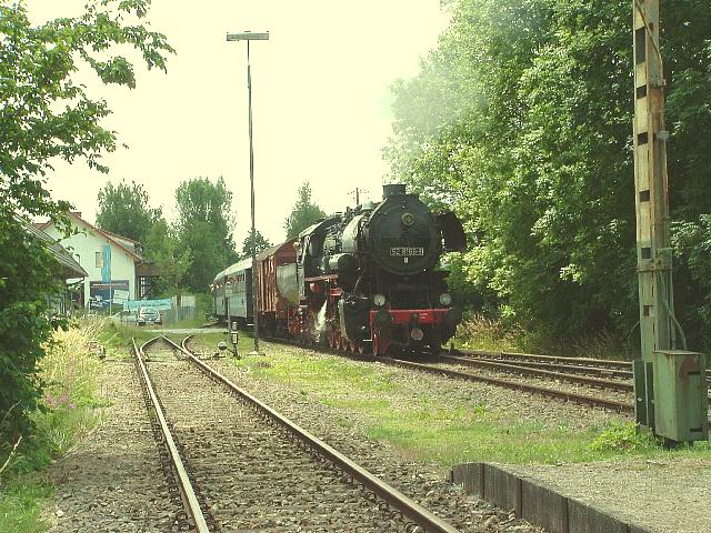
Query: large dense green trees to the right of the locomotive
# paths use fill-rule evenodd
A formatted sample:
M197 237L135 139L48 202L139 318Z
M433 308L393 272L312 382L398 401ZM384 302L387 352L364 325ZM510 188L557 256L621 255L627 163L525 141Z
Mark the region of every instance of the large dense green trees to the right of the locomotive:
M625 338L639 319L631 9L458 0L420 74L393 87L384 150L393 178L435 208L453 207L477 237L453 281L473 285L470 304L545 332L549 345L590 331ZM663 17L668 122L681 141L670 143L673 218L700 225L711 212L711 6L672 1ZM702 238L685 234L689 255ZM689 264L682 314L705 305L701 271ZM703 324L694 330L709 338Z

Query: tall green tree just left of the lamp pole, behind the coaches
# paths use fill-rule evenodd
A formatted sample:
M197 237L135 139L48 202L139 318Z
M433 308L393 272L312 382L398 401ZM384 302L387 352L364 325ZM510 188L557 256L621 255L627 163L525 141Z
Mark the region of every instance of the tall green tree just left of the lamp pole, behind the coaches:
M232 241L232 193L219 178L184 181L176 191L178 240L196 261L188 269L188 286L207 292L220 270L238 259Z

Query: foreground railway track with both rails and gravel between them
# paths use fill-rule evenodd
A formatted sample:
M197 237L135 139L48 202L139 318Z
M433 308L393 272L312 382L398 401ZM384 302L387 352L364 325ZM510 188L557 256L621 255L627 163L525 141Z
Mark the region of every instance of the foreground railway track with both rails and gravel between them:
M162 341L183 360L148 364ZM136 348L184 504L207 531L428 531L452 525L303 431L194 356L157 338Z

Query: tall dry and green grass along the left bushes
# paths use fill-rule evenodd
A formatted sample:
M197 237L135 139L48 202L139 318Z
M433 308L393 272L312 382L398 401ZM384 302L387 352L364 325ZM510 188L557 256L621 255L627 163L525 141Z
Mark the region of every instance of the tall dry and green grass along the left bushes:
M106 336L103 320L80 319L67 331L57 331L47 344L40 362L46 383L42 409L32 415L36 431L28 435L9 457L0 473L0 532L40 532L41 517L51 485L41 471L66 453L96 424L97 374L100 361L90 353L89 343ZM0 466L7 457L0 457Z

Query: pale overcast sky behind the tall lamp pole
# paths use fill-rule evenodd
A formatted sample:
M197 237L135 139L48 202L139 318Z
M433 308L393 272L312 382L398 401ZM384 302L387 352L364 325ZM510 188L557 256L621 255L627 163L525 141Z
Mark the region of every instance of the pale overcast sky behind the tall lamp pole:
M77 14L82 4L27 2L36 21ZM181 181L222 175L234 194L238 248L250 227L247 50L226 33L270 32L250 52L257 229L276 243L307 179L327 213L352 204L356 187L380 198L389 88L417 74L447 26L439 0L153 0L149 19L177 50L168 73L138 69L133 90L89 83L129 149L106 158L108 175L83 161L58 164L49 187L93 222L107 180L136 180L171 218Z

